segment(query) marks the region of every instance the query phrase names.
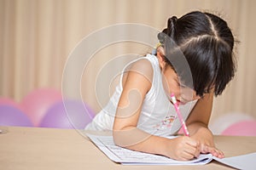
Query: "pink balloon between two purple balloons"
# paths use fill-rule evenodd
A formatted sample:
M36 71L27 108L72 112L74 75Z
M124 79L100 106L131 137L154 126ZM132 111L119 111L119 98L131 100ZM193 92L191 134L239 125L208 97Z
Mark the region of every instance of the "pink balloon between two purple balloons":
M34 126L38 127L49 107L61 99L61 92L52 88L40 88L27 94L20 105Z

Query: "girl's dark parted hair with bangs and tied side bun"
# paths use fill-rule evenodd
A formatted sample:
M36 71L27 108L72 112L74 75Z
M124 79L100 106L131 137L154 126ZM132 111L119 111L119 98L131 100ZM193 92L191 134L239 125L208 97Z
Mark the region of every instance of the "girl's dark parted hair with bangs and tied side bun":
M195 11L179 19L173 16L168 20L167 28L158 34L158 39L165 48L166 62L185 85L195 89L197 95L203 96L211 88L216 96L222 94L235 75L234 37L227 23L214 14ZM191 73L173 64L181 54ZM188 78L189 74L193 80Z

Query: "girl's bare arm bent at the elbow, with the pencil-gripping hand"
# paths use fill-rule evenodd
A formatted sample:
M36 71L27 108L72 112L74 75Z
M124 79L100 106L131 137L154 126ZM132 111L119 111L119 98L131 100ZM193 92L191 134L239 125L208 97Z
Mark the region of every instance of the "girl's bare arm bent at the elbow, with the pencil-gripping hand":
M143 62L143 63L142 63ZM132 65L123 77L123 92L113 123L114 143L131 150L189 160L200 154L200 145L189 137L166 139L137 128L143 100L151 88L153 68L145 59Z

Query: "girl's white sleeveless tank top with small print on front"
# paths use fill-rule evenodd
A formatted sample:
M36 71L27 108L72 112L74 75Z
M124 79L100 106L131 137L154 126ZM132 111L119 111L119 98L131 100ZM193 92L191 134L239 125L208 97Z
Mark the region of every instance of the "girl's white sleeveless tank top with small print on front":
M150 61L154 70L154 76L151 88L143 101L143 107L139 116L137 128L158 136L167 136L177 133L181 127L181 123L177 118L177 113L174 106L166 96L166 92L163 88L158 59L152 54L147 54L146 57L139 59L148 59L148 61ZM131 61L131 63L136 62L137 60L138 59L135 59ZM131 65L131 63L128 65ZM126 65L125 68L127 68L128 65ZM113 120L122 90L123 87L121 77L119 85L116 87L115 92L108 104L94 117L93 121L90 122L85 129L100 131L108 131L113 129ZM186 105L179 106L184 120L186 120L189 116L189 113L195 106L196 101L197 100L191 101Z

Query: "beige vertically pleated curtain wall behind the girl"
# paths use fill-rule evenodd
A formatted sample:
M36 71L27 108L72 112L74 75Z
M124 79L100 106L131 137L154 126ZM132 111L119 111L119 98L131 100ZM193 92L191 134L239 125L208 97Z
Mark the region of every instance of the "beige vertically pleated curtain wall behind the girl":
M256 118L255 7L253 0L0 0L0 96L20 101L36 88L61 90L68 55L93 31L118 23L143 24L160 31L170 16L199 9L220 14L240 41L236 45L236 77L215 99L211 122L230 112ZM100 110L93 82L104 64L121 54L146 54L149 49L134 42L102 48L84 69L87 74L81 75L85 102ZM116 66L129 60L127 56ZM106 84L99 88L110 89ZM104 102L108 99L100 97Z

